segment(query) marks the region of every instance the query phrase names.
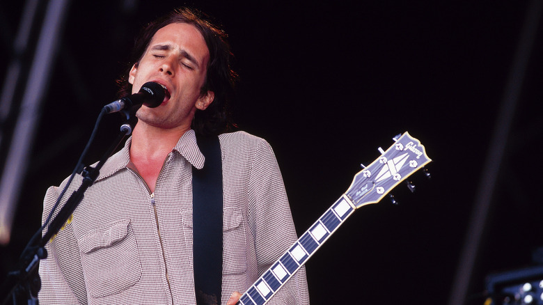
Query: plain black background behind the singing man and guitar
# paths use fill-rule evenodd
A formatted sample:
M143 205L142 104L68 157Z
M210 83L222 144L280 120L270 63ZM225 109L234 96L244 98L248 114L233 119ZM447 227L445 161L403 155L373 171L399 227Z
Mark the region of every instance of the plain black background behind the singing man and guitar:
M1 276L38 229L47 187L70 174L97 114L114 100L114 79L140 26L183 4L135 1L136 9L126 11L116 0L72 2L12 241L0 247ZM237 123L272 144L299 233L395 134L409 131L434 160L432 180L415 178L414 194L400 187L399 205L384 200L361 208L311 258L312 303L445 304L528 1L192 4L229 33L241 77ZM22 3L0 9L0 77L6 77ZM532 265L532 251L543 246L540 28L509 137L500 139L503 162L493 164L500 171L469 304L484 302L487 274ZM89 162L109 146L119 122L106 118Z

